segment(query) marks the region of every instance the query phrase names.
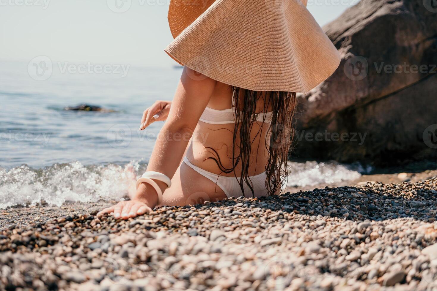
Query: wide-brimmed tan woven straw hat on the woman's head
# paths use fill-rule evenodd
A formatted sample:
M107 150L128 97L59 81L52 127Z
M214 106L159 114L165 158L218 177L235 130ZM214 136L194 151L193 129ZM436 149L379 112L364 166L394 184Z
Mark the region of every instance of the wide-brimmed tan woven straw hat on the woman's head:
M243 89L306 93L340 63L306 0L171 0L168 21L174 60Z

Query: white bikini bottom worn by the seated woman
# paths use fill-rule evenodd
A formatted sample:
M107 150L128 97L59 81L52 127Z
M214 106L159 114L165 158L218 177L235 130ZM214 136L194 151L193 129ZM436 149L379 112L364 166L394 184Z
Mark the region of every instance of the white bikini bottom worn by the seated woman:
M202 168L199 168L197 166L194 166L194 164L191 164L190 161L188 161L187 157L184 157L184 163L192 168L194 171L198 172L200 175L210 179L213 181L218 187L220 187L223 192L225 192L226 197L239 197L241 196L241 187L239 184L240 178L235 177L223 177L219 176L217 174L205 171ZM261 197L267 195L267 188L266 188L266 179L267 174L261 173L259 175L250 176L251 186L253 188L253 193L255 194L255 197ZM238 180L237 180L238 179ZM252 196L252 191L250 190L248 185L243 185L244 188L244 197L249 198Z

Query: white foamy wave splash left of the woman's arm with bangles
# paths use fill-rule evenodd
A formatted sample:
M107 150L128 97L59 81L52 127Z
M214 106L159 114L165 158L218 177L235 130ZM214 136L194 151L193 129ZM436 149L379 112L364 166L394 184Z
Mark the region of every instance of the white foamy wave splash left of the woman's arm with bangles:
M0 209L45 202L90 202L122 199L144 167L139 162L125 166L109 164L83 166L80 162L54 164L42 169L22 165L7 171L0 168Z

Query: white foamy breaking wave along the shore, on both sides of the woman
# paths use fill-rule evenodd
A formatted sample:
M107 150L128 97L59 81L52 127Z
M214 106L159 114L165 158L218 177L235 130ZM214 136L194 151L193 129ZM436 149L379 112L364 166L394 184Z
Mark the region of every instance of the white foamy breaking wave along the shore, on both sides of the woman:
M360 178L360 165L336 162L289 162L288 187L336 183ZM125 165L84 166L80 162L53 164L35 169L22 165L10 170L0 168L0 209L18 205L61 206L64 202L120 200L129 186L146 170L146 164L132 161Z

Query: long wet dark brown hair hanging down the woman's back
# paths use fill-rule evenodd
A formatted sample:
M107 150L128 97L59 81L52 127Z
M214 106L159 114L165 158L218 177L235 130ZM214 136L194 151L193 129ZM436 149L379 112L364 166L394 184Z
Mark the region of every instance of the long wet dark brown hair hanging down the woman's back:
M249 178L250 157L253 151L254 139L250 137L253 123L256 121L257 101L264 99L264 109L259 112L272 112L271 124L268 127L265 146L268 151L266 164L266 188L268 195L275 194L281 189L282 181L288 176L287 160L291 151L292 140L295 134L294 113L296 109L296 93L283 91L252 91L232 87L232 98L234 100L235 127L232 139L232 168L225 168L218 157L209 157L214 160L220 170L224 173L235 173L237 164L241 163L241 179L239 185L244 193L244 185L248 185L254 196L253 188ZM269 110L270 109L270 110ZM265 118L265 117L264 117ZM267 123L268 124L268 123ZM256 137L261 137L261 131ZM255 137L255 138L256 138ZM257 149L255 149L257 150Z

